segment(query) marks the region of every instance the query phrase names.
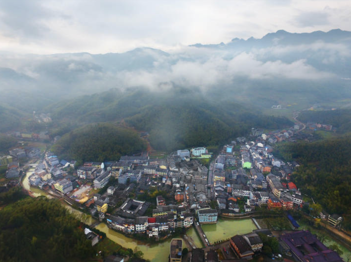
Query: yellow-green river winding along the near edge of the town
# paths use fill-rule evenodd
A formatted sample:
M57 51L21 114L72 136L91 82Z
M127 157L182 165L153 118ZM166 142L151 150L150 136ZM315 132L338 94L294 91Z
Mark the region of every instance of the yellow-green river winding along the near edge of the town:
M33 173L34 169L29 169L24 177L22 184L23 187L27 190L30 190L34 196L46 196L52 198L51 195L46 193L45 191L32 187L29 184L28 177ZM68 204L62 203L62 205L71 210L74 215L80 219L81 211L73 209ZM87 224L91 224L95 222L95 219L90 217L90 220L87 221ZM210 242L228 239L237 234L245 234L251 232L253 229L256 229L256 226L252 222L251 219L240 219L240 220L224 220L219 219L217 224L205 224L202 226L208 240ZM170 243L172 239L167 239L164 242L154 243L154 244L145 244L143 242L137 241L135 239L126 237L125 235L112 230L107 227L105 223L100 223L96 227L100 231L106 233L106 236L111 239L112 241L116 242L117 244L121 245L125 248L131 248L134 250L135 247L139 247L141 251L144 253L144 258L149 259L151 262L167 262L168 255L170 254ZM191 236L194 244L197 247L202 248L203 244L196 232L196 230L192 227L187 230L187 235ZM183 241L183 248L185 246L185 242Z

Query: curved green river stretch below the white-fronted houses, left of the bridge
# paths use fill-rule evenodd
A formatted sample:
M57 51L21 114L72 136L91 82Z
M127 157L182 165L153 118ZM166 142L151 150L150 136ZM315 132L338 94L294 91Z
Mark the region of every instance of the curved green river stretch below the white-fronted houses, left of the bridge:
M168 256L170 255L170 244L172 239L167 239L164 242L149 245L139 242L135 239L126 237L125 235L108 228L105 223L98 224L96 228L102 232L105 232L109 239L121 245L122 247L131 248L133 250L135 247L139 247L140 250L144 253L144 259L149 259L151 262L168 261ZM184 247L185 243L183 241L183 248Z

